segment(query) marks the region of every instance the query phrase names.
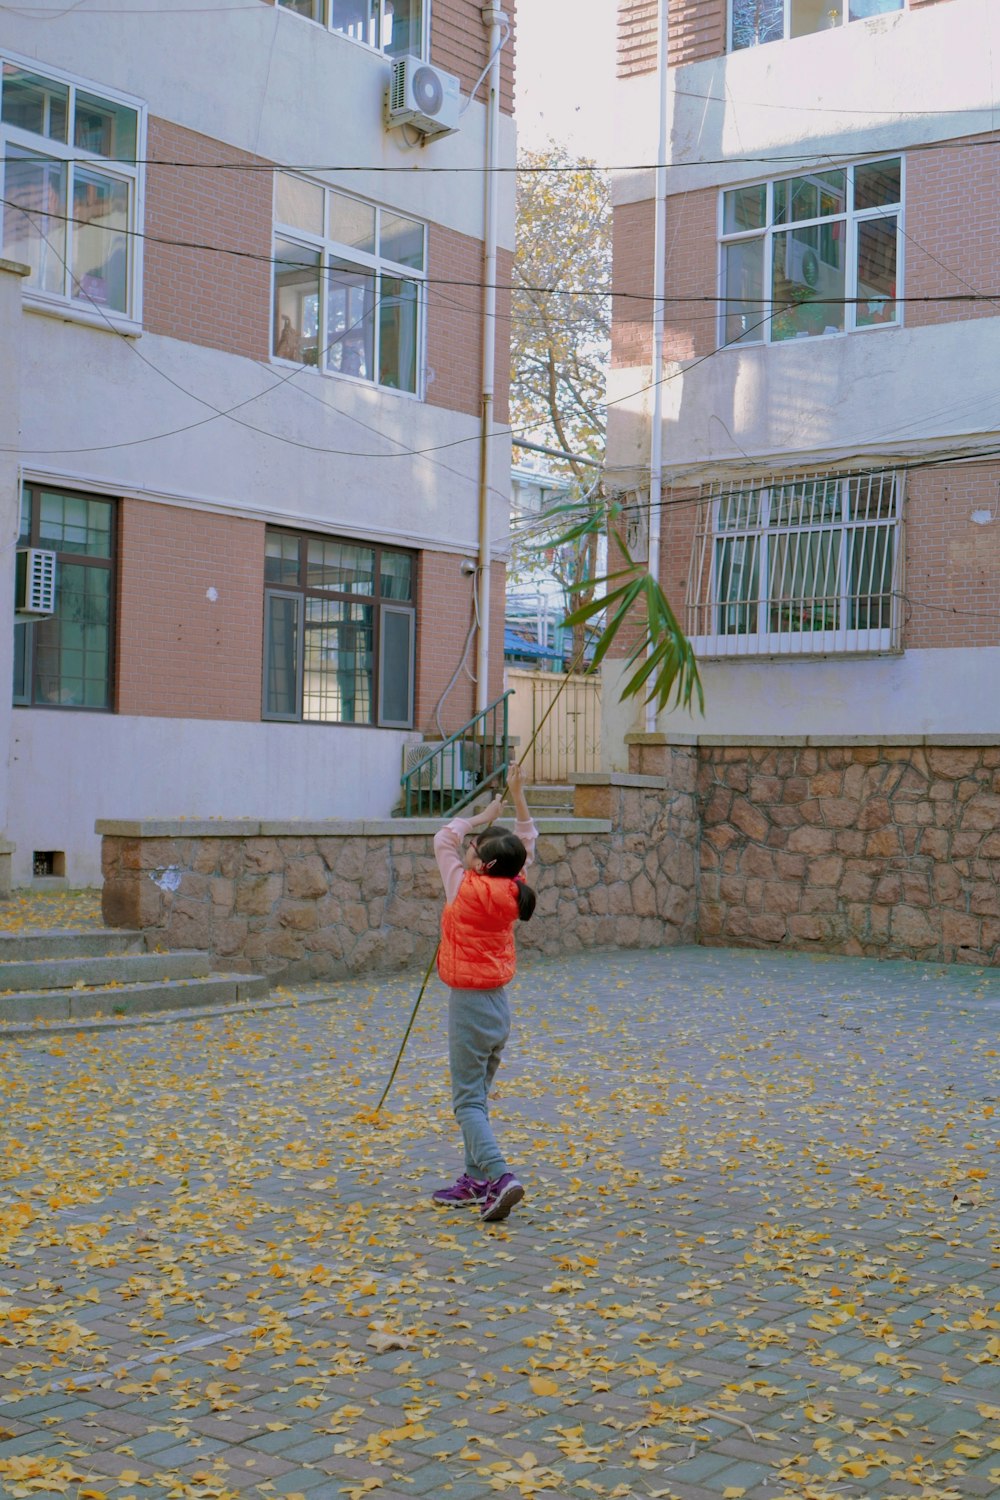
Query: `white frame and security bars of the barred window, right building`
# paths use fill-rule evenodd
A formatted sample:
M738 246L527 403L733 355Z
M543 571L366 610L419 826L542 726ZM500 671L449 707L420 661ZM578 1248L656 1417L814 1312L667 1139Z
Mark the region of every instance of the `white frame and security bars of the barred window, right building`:
M772 495L787 486L835 484L840 490L840 508L829 519L816 514L816 498L811 513L795 520L771 524ZM859 496L859 514L852 513L852 486ZM888 508L880 510L880 495L886 495ZM807 502L808 504L808 502ZM900 651L901 596L903 596L903 513L904 480L901 472L886 474L775 474L763 478L715 482L702 492L687 592L687 633L700 657L817 657L817 656L885 656ZM873 514L874 508L874 514ZM726 516L724 516L726 513ZM745 519L741 520L741 516ZM729 524L727 524L727 519ZM733 519L735 518L735 519ZM879 558L879 544L865 546L867 537L889 531L891 550ZM783 558L786 578L804 576L813 572L813 564L822 549L810 556L810 546L819 537L829 536L834 546L829 550L828 574L832 574L835 590L819 592L772 594L772 560ZM732 552L744 544L744 562L733 562ZM726 549L730 561L723 564ZM855 552L853 549L859 549ZM858 556L859 572L868 568L868 588L850 591L852 561ZM733 578L736 566L750 567L756 573L753 590L729 588L723 597L723 566ZM879 578L876 570L879 568ZM828 582L823 579L822 582ZM877 585L877 586L876 586ZM886 586L888 585L888 586ZM888 598L888 603L883 603ZM876 604L865 604L874 600ZM831 626L825 615L831 602L837 620ZM850 624L852 604L858 604L855 624ZM798 614L804 628L774 628L774 610L789 618ZM868 609L868 620L864 621ZM726 612L730 612L726 620ZM739 615L745 614L741 628ZM877 614L876 624L871 614ZM888 615L888 622L886 622Z

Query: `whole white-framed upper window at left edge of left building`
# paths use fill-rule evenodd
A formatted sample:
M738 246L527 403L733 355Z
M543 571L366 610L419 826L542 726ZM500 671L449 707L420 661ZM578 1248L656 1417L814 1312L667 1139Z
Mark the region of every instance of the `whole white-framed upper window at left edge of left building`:
M3 254L28 294L136 316L141 111L3 62Z

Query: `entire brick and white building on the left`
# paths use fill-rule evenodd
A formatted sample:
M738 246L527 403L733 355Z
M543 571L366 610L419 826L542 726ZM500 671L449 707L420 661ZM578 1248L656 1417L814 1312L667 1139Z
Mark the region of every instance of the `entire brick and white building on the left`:
M97 884L96 818L387 816L403 747L502 690L505 12L3 12L7 620L13 540L57 555L0 652L15 884Z

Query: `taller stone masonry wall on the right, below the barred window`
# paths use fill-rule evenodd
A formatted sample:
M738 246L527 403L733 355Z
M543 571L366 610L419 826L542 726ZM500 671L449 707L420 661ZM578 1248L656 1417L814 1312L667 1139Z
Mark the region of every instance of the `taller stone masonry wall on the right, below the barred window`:
M699 938L1000 963L1000 746L699 747Z

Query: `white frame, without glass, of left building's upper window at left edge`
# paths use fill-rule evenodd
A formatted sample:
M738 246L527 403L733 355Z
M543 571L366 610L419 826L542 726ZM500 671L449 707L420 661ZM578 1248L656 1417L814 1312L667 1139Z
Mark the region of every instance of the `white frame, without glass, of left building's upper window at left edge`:
M6 198L7 148L13 148L18 154L39 160L66 162L66 268L63 284L64 286L70 286L73 279L72 237L75 231L75 168L81 166L84 171L88 166L99 168L102 176L126 183L129 186L129 224L126 230L126 309L121 312L115 308L96 304L85 296L75 297L72 290L57 294L27 284L24 285L24 304L33 312L51 314L61 320L69 318L78 322L88 322L94 327L108 327L108 324L112 324L115 332L139 333L142 328L142 236L139 230L144 224L145 214L145 172L138 164L145 159L145 104L132 94L123 94L117 88L108 88L102 82L94 82L79 74L67 74L57 68L49 68L46 63L39 64L33 57L21 57L16 52L3 50L0 51L0 68L3 63L12 63L16 68L24 68L30 74L36 74L40 78L49 78L52 82L63 84L69 88L67 116L70 128L67 128L66 132L69 136L72 136L72 118L78 92L99 99L106 99L108 104L123 105L126 110L135 111L135 162L120 162L114 158L99 156L96 152L88 152L84 147L75 146L72 140L66 142L52 141L49 136L34 135L30 130L21 130L13 124L6 124L0 120L0 196Z

